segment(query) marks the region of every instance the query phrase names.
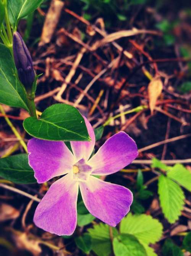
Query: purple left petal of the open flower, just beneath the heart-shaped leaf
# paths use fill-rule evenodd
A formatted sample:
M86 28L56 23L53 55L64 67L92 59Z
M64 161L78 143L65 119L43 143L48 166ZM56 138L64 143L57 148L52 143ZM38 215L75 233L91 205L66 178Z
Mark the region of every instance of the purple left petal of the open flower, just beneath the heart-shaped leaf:
M27 145L29 165L38 183L72 170L74 156L62 141L31 139Z

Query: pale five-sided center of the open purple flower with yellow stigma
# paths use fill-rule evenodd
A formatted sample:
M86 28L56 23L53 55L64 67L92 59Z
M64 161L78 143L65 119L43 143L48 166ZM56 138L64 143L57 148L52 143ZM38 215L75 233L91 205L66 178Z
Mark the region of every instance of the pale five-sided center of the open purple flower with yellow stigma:
M73 165L73 179L76 181L86 182L91 170L91 166L87 165L84 159L81 159Z

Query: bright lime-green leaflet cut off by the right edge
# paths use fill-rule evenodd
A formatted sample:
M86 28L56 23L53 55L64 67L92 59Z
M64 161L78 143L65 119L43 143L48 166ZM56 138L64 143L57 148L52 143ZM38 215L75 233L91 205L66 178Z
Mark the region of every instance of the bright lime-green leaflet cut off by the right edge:
M167 172L167 177L191 192L191 172L182 164L175 164L171 170Z

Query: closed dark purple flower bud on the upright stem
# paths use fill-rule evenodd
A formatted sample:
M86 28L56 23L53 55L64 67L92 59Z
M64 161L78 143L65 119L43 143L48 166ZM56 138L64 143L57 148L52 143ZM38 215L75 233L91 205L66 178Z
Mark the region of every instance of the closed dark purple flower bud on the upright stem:
M26 89L31 89L31 85L35 79L32 58L21 35L18 32L15 32L13 35L13 55L21 83Z

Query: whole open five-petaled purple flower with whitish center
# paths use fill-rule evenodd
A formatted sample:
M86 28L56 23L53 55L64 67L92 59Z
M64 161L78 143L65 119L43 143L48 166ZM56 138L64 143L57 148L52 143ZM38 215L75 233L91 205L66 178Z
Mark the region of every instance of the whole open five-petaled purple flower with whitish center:
M95 135L91 124L84 120L91 142L70 142L73 154L64 142L35 138L28 142L29 165L38 183L67 173L50 186L34 214L36 226L57 235L71 235L76 228L78 189L87 210L110 226L120 222L133 201L128 188L92 175L112 174L130 164L138 155L134 140L118 132L89 159Z

